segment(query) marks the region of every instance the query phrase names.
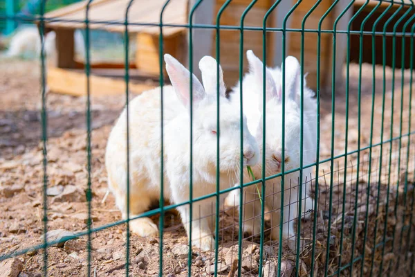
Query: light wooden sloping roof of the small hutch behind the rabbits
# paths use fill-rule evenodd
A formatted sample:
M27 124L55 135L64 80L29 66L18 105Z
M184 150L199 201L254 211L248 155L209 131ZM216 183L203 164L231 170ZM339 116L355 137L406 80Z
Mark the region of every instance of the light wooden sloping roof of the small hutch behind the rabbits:
M91 21L89 28L102 29L111 32L124 32L127 8L131 0L95 0L91 2L88 11L88 19ZM86 6L89 1L82 1L65 8L48 12L46 19L59 19L58 21L46 21L50 28L85 28ZM158 35L160 28L160 13L163 10L165 0L135 0L131 2L128 10L128 30L130 33L149 33ZM64 21L62 21L64 20ZM104 23L109 21L111 24ZM185 30L178 26L187 24L187 0L175 0L165 8L163 24L174 26L163 27L163 35L168 37Z

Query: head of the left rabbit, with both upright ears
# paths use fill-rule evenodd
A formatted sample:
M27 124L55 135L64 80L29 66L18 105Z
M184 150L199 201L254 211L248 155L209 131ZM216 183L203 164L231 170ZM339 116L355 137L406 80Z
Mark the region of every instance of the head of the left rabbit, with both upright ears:
M248 131L246 117L241 118L239 107L225 98L223 71L216 60L205 56L199 62L203 85L195 75L192 75L192 100L190 71L171 55L165 55L165 62L176 96L186 110L178 116L175 124L176 149L181 152L182 159L185 155L185 162L189 162L187 158L190 157L190 153L183 151L190 148L188 138L190 137L190 104L192 103L194 170L203 175L207 181L215 182L217 139L220 136L219 171L221 176L237 174L241 159L241 127L243 129L243 165L254 166L259 161L257 142ZM217 90L218 80L219 91ZM219 126L217 125L218 104Z

